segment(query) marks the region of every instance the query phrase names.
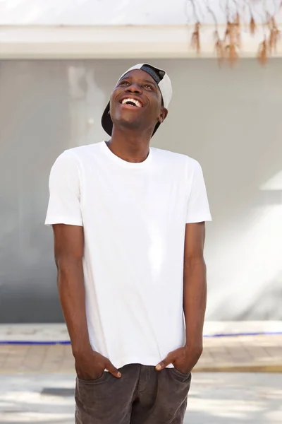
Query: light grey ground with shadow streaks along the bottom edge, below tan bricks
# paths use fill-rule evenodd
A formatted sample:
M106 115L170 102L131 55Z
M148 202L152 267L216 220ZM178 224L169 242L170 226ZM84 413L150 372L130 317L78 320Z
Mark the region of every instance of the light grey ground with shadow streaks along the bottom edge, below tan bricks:
M73 374L1 375L1 424L73 424ZM282 375L195 373L185 424L282 423ZM113 423L114 424L114 423Z

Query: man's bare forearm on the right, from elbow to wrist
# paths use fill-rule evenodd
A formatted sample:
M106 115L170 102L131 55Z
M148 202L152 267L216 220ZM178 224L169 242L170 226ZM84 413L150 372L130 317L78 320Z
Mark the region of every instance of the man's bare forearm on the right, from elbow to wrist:
M203 258L186 261L183 284L186 343L192 342L202 346L207 306L207 269Z

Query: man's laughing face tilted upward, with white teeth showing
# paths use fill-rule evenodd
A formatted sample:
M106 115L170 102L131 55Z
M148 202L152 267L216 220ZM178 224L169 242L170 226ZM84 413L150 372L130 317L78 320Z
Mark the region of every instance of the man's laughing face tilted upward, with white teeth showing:
M167 113L157 83L140 69L126 73L111 94L110 114L114 126L153 132Z

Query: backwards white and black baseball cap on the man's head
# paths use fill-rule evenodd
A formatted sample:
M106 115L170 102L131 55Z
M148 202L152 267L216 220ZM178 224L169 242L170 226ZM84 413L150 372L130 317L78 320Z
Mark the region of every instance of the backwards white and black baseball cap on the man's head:
M156 81L156 83L159 86L159 90L161 92L164 107L168 109L169 102L171 101L172 96L172 87L171 87L171 80L168 77L168 74L163 69L156 68L155 66L152 66L150 64L137 64L135 66L132 66L130 69L125 71L120 78L118 78L118 81L125 76L126 73L133 71L134 69L141 69L141 71L145 71L149 73L150 76ZM104 113L102 115L102 126L104 130L106 131L109 136L111 136L111 131L113 130L113 122L111 120L111 117L109 115L110 110L110 102L108 105L106 105L106 109L104 110ZM157 131L157 129L160 126L160 122L157 122L156 126L154 127L154 133Z

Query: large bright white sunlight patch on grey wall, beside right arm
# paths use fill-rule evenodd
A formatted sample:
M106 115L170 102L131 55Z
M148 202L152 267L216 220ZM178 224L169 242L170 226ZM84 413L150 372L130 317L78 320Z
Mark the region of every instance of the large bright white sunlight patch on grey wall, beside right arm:
M259 207L248 218L245 231L221 238L212 273L220 276L222 290L219 286L211 290L209 314L216 313L219 305L233 315L250 309L266 285L277 279L282 272L281 217L282 204Z

